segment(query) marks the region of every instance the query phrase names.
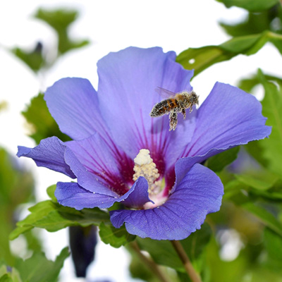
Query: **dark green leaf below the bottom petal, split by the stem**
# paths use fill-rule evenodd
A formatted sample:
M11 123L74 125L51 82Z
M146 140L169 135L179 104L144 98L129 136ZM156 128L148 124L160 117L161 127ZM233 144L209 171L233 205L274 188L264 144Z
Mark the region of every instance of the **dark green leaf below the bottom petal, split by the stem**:
M207 243L209 243L211 235L211 228L207 223L204 223L200 230L191 233L188 238L180 240L191 262L195 262L200 257ZM185 271L170 241L137 237L137 243L141 250L149 252L149 255L157 264L169 266L177 271Z

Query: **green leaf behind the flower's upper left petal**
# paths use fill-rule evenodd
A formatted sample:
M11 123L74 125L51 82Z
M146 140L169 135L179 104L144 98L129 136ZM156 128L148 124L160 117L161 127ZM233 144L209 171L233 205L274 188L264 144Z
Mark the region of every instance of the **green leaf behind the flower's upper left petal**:
M51 136L56 136L62 141L71 140L70 137L61 133L59 126L49 113L47 104L44 101L44 94L39 93L37 97L33 97L30 105L22 114L33 127L34 133L32 133L30 137L32 137L37 144L39 144L40 140Z

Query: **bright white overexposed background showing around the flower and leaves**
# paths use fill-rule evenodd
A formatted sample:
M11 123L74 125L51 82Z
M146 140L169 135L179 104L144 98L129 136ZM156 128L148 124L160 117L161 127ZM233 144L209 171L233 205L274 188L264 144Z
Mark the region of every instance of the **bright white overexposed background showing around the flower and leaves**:
M37 8L75 8L80 17L71 27L77 39L90 39L88 47L74 50L63 56L44 77L38 78L24 63L6 48L33 49L41 41L44 46L56 44L54 32L32 14ZM8 109L0 112L0 146L16 155L17 146L34 147L27 137L28 129L20 111L30 99L56 80L66 76L88 78L97 87L96 63L109 51L128 46L163 47L177 54L188 47L221 44L228 36L219 26L219 20L235 23L246 15L239 8L226 9L214 0L104 0L104 1L0 1L0 102L8 102ZM212 66L192 81L202 102L216 81L235 85L242 77L255 73L257 68L281 76L282 60L270 44L254 56L237 56L231 61ZM36 179L37 201L47 199L46 188L57 181L67 181L66 176L37 168L30 159L20 159L32 169ZM20 191L19 191L20 192ZM67 245L66 231L42 231L47 257L54 259ZM20 251L20 243L13 250ZM109 278L115 282L133 281L127 270L129 257L122 249L114 249L99 242L97 260L90 266L88 278ZM71 259L61 273L61 281L78 281L73 276Z

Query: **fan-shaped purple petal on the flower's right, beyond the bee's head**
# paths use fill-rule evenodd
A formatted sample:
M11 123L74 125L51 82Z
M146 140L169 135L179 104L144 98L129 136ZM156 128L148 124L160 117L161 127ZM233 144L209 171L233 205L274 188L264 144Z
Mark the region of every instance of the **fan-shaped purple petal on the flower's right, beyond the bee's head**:
M206 155L207 159L221 150L268 137L271 127L265 121L255 97L216 82L197 111L196 129L183 157Z

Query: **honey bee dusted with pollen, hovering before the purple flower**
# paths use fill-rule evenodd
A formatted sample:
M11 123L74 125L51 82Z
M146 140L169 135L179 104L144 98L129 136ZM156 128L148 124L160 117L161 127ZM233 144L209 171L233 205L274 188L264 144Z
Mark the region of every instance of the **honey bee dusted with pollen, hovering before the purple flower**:
M186 109L190 108L191 112L193 106L199 104L199 96L194 91L174 93L161 87L157 87L156 91L168 99L154 105L150 116L154 118L169 114L169 131L176 130L177 116L179 113L182 113L183 118L186 118Z

